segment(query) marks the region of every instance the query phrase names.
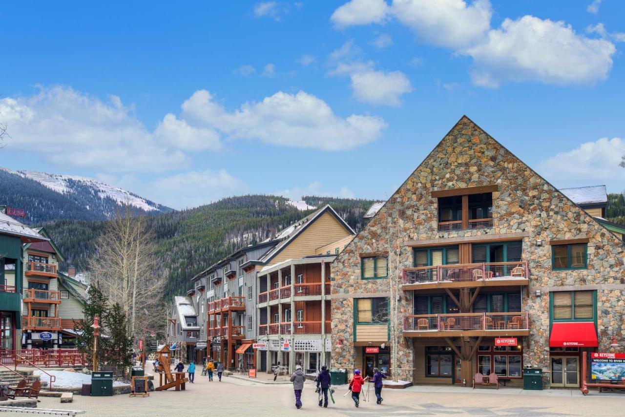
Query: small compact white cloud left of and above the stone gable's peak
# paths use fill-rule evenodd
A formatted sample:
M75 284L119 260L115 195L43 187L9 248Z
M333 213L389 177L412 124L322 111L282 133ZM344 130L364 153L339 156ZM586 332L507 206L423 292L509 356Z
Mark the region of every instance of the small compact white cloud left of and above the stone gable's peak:
M400 71L384 73L368 71L351 76L354 97L359 101L386 106L399 106L402 94L410 93L412 85Z

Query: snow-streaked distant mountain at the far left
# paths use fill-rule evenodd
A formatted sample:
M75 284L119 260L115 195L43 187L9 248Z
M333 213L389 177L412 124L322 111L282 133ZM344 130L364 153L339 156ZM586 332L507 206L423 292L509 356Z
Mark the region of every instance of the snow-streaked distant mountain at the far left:
M27 223L53 219L103 220L124 204L143 213L172 209L83 176L0 168L0 204L24 208Z

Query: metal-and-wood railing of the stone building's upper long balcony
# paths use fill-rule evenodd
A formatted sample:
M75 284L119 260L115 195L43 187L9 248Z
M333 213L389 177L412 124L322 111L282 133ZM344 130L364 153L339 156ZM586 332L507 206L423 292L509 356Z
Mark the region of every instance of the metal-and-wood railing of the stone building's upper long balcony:
M487 281L490 279L527 279L527 261L452 264L404 268L404 284L424 284L457 281Z

